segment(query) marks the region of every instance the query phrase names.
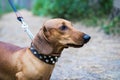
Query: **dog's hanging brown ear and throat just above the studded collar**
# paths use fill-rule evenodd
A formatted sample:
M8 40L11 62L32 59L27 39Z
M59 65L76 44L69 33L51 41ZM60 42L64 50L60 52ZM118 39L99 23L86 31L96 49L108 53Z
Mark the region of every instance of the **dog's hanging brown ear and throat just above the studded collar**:
M58 44L48 41L42 30L35 36L32 44L39 53L49 56L60 56L64 49Z

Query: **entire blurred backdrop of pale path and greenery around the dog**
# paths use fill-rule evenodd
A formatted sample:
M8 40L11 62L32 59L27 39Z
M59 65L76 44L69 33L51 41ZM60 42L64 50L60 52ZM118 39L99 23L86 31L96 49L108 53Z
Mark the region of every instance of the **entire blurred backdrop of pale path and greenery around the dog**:
M120 0L13 0L33 35L51 18L64 18L89 34L82 48L65 49L51 80L120 80ZM8 0L0 0L0 41L21 47L31 40Z

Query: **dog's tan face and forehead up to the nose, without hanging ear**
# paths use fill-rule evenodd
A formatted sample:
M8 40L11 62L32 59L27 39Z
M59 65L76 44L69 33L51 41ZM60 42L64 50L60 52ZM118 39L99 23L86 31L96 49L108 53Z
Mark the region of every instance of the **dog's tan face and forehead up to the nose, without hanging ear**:
M90 36L75 29L70 21L64 19L48 20L43 26L47 40L63 47L82 47Z

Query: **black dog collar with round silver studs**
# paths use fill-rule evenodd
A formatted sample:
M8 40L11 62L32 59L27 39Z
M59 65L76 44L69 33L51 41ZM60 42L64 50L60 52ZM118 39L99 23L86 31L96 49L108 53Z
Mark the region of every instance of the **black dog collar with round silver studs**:
M30 47L30 51L41 61L51 65L54 65L59 58L59 56L49 56L49 55L40 54L33 46Z

